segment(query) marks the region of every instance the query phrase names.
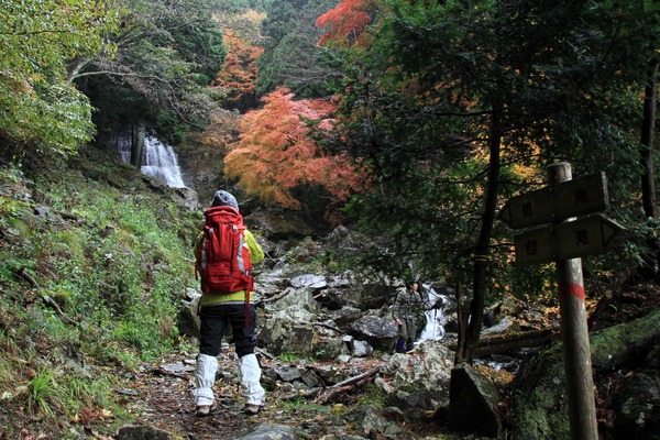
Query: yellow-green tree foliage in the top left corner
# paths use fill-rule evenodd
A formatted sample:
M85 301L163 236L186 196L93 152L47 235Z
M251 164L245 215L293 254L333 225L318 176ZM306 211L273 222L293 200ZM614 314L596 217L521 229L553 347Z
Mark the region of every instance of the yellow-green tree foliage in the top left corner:
M74 153L94 127L66 63L103 50L114 11L91 0L2 1L0 16L0 139L19 157L35 145L36 154Z

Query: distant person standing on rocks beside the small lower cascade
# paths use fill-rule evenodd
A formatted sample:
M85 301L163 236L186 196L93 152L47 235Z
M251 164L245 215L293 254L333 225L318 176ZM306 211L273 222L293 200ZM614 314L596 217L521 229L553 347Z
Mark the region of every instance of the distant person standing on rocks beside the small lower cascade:
M439 301L429 307L429 304L419 295L418 289L419 284L417 282L397 288L391 306L392 316L398 327L398 339L395 348L397 353L408 353L415 350L417 316L421 315L422 310L441 307Z

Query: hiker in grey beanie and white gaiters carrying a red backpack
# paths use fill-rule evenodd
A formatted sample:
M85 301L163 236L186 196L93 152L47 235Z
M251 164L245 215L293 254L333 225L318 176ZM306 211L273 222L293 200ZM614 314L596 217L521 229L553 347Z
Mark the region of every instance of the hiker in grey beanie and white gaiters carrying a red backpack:
M213 219L217 223L213 223ZM195 414L204 417L216 409L212 388L218 370L217 356L220 354L222 337L231 327L232 342L239 358L239 380L245 398L243 411L248 415L255 415L264 404L265 393L260 383L261 366L254 354L256 311L253 304L253 278L250 270L252 264L264 260L264 252L254 235L243 226L239 205L230 193L224 190L216 193L211 208L205 211L205 230L200 233L195 246L196 270L201 275L202 290L199 302L201 320L199 354L195 369ZM222 224L227 224L227 222L233 224L230 224L226 231ZM231 241L227 240L227 234L230 238L238 234L234 249L240 250L239 252L224 249L224 243ZM216 262L218 258L213 258L212 255L222 253L230 254L230 256L220 257L224 261ZM241 272L238 272L239 270Z

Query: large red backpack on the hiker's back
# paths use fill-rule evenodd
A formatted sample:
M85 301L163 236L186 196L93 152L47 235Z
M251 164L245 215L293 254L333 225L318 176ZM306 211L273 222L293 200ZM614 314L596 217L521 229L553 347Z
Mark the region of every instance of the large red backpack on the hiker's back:
M229 206L218 206L205 211L204 218L204 235L195 265L196 277L201 277L201 292L231 294L253 290L243 216Z

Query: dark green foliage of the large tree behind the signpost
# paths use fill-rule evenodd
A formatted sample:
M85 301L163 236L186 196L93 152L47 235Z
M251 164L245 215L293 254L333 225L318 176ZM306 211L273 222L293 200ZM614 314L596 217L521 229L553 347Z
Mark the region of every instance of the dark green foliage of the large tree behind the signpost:
M372 45L334 53L344 75L338 139L374 173L373 193L349 207L381 238L364 262L472 283L486 189L498 185L502 206L543 185L544 166L559 160L574 176L605 170L614 198L635 212L638 96L656 29L640 4L378 2ZM486 178L493 166L497 183ZM551 271L512 265L512 239L493 223L491 300L548 297ZM607 263L629 264L620 252Z

